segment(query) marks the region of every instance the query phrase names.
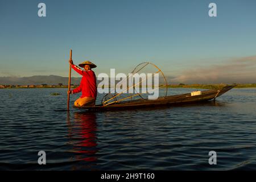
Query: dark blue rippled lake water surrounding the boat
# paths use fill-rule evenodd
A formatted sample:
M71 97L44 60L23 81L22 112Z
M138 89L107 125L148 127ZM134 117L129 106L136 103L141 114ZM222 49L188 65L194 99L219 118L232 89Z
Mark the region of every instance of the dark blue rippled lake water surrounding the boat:
M101 113L61 111L67 89L0 89L0 100L1 170L256 169L256 89L204 104ZM42 150L46 165L38 164Z

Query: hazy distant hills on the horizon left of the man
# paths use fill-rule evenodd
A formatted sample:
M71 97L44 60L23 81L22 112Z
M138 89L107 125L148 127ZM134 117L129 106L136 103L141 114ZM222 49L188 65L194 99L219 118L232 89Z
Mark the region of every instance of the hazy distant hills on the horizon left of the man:
M71 84L79 85L81 77L72 77ZM0 77L0 85L57 85L62 83L68 85L68 77L56 75L30 76L30 77Z

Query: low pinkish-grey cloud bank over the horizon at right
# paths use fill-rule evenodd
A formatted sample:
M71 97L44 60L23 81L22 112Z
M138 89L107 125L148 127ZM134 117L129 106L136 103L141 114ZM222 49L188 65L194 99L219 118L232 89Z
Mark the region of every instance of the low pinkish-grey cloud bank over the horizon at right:
M197 65L195 68L182 72L171 82L185 84L255 83L256 56L233 58L222 64L210 65L210 67Z

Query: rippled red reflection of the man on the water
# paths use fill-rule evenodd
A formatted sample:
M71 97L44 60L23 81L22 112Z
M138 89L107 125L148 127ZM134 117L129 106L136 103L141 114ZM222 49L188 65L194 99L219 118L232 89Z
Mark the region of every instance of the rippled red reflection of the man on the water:
M69 143L73 146L71 152L79 154L75 156L76 160L86 162L97 160L94 156L97 153L95 113L76 112L72 120L71 122L68 115L68 138L70 139Z

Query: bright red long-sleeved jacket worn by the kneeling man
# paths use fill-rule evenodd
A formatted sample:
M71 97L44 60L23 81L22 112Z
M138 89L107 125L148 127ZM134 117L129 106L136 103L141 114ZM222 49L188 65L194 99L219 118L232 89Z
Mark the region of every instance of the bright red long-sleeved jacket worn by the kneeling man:
M79 87L73 89L73 93L82 92L83 97L97 97L97 84L96 84L96 76L92 70L83 71L81 68L77 67L76 65L72 65L72 68L82 75L82 80L80 82Z

